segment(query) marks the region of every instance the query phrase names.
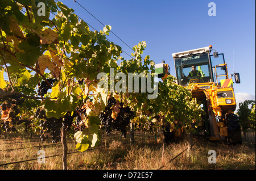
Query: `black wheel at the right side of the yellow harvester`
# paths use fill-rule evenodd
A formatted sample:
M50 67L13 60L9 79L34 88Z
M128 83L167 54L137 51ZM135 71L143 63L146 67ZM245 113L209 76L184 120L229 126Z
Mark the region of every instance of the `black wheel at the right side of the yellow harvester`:
M237 115L226 115L226 124L228 127L228 142L230 144L242 144L242 133Z

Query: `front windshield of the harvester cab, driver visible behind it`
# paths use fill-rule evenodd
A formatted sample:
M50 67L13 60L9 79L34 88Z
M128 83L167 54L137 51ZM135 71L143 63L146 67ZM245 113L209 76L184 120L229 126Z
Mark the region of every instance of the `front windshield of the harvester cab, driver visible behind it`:
M179 85L187 86L189 82L212 82L208 53L175 58L174 61Z

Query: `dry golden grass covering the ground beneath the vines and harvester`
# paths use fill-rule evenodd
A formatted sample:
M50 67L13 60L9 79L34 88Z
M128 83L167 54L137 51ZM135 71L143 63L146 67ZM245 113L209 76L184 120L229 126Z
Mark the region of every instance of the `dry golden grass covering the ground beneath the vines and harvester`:
M193 141L192 146L185 141L176 144L162 146L162 138L151 135L135 136L134 144L129 144L129 138L118 136L108 137L106 142L102 138L101 145L94 150L87 150L82 153L68 154L68 169L71 170L119 170L119 169L254 169L255 170L255 136L243 141L243 145L226 145L222 142L210 142L205 139ZM18 144L8 144L19 142ZM128 143L128 144L125 144ZM40 148L35 148L39 146ZM38 150L44 150L46 157L49 155L62 154L60 144L43 146L49 142L33 142L33 140L12 140L0 139L0 165L3 163L16 162L31 158L38 158ZM105 145L107 147L105 147ZM104 147L101 148L100 147ZM7 150L13 149L14 150ZM26 148L26 149L19 149ZM68 143L69 153L76 151L75 142ZM6 150L6 151L3 151ZM209 163L209 150L216 151L216 163ZM183 152L183 153L181 153ZM181 154L180 154L181 153ZM180 155L179 155L180 154ZM179 155L178 157L176 157ZM175 159L173 159L175 158ZM62 169L61 155L46 158L45 163L28 161L0 166L0 169L21 169L21 170L53 170Z

